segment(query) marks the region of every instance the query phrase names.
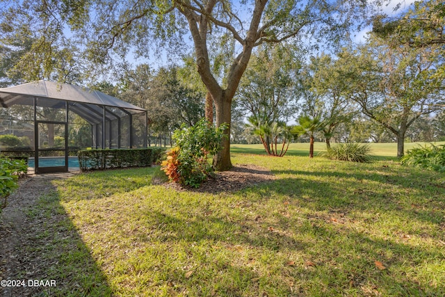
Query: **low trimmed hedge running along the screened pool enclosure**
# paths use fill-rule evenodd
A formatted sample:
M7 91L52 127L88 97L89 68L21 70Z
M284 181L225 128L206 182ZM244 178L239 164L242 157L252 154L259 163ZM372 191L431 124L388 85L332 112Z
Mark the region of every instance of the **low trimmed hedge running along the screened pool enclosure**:
M116 150L81 150L79 167L81 170L105 168L152 166L165 154L163 147L146 147L143 149Z

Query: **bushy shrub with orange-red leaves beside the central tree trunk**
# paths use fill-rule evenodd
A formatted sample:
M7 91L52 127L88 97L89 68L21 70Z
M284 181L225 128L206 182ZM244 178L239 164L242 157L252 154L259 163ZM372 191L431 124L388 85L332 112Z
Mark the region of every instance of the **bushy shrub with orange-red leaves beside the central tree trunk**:
M163 162L163 170L169 179L186 186L199 187L213 172L207 156L221 149L225 129L227 125L215 128L202 119L193 127L183 125L176 130L173 139L179 149L177 153L170 151L168 159Z

